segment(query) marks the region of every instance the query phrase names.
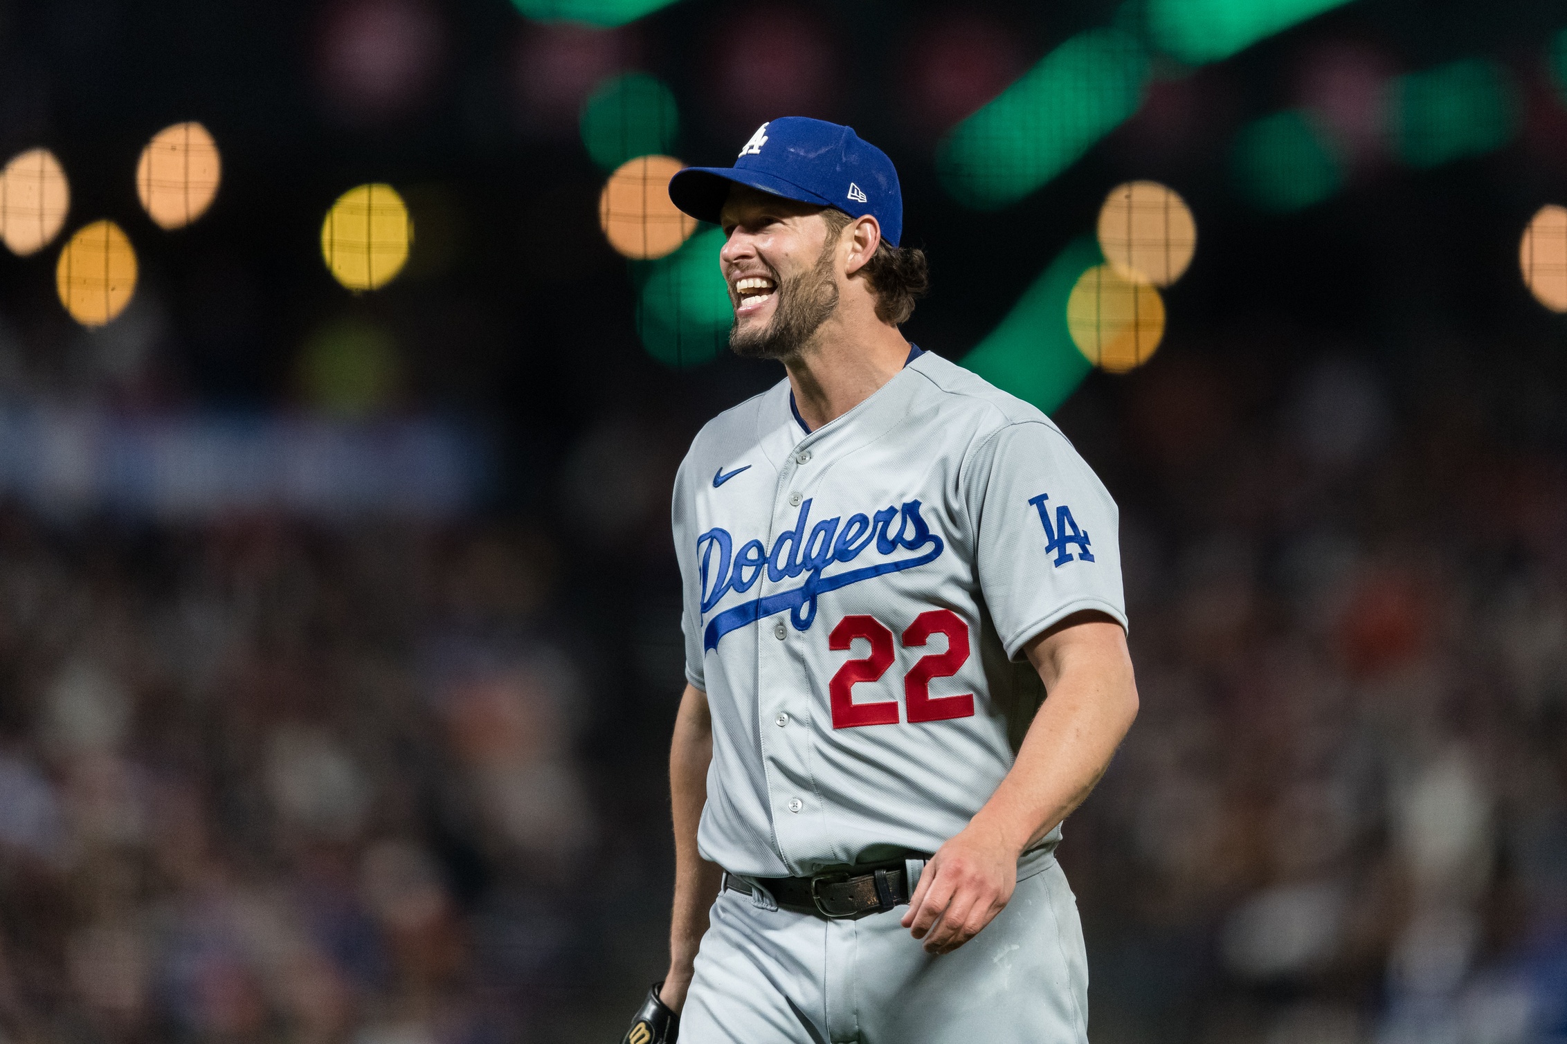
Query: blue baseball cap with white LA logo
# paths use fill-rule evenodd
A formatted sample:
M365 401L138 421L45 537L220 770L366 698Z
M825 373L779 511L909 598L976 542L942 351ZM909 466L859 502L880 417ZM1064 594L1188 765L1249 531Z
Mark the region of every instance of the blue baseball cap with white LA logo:
M837 207L851 218L870 214L888 246L903 235L898 171L852 127L805 116L769 121L751 135L735 166L686 167L669 178L669 199L697 221L718 224L730 185Z

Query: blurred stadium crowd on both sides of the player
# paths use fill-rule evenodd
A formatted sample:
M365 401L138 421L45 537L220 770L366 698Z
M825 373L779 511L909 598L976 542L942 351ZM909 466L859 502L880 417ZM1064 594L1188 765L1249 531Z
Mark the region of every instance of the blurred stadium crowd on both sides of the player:
M1062 845L1094 1039L1559 1039L1567 470L1496 419L1529 388L1211 343L1061 412L1124 506L1144 707ZM614 416L537 527L3 512L6 1039L619 1031L661 967L689 429ZM581 524L611 463L646 496Z

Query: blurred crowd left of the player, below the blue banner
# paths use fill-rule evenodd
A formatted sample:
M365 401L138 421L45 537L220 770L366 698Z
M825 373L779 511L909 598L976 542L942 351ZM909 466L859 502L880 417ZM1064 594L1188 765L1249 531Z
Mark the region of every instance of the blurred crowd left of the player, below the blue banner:
M6 1039L509 1041L600 949L533 543L0 527Z

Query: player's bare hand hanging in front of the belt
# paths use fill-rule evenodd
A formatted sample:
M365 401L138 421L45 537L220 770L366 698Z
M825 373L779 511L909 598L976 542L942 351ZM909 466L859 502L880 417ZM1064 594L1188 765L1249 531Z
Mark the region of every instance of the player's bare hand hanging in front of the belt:
M979 934L1012 898L1019 850L1000 831L970 822L925 864L903 927L926 953L951 953Z

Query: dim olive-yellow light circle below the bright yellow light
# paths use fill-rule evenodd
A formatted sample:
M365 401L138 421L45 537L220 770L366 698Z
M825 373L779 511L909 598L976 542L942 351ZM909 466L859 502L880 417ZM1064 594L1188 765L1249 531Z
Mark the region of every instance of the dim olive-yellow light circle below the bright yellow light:
M323 413L365 418L384 410L396 393L401 363L385 329L357 318L328 322L304 343L299 390Z

